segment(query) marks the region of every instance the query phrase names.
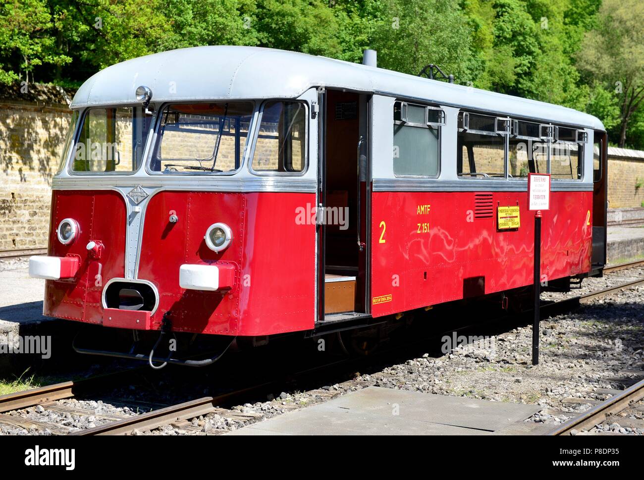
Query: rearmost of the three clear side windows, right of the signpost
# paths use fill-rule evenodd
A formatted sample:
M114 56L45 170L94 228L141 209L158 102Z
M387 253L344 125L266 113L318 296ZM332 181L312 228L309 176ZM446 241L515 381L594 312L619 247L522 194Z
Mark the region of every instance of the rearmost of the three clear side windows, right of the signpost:
M583 140L580 140L580 135L585 138L582 130L554 128L554 142L550 144L550 175L553 180L581 180Z

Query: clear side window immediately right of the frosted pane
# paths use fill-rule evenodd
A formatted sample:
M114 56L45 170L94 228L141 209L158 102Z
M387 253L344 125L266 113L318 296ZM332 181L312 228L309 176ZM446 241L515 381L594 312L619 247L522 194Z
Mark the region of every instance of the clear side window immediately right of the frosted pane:
M461 111L457 175L461 178L505 178L509 130L510 119Z

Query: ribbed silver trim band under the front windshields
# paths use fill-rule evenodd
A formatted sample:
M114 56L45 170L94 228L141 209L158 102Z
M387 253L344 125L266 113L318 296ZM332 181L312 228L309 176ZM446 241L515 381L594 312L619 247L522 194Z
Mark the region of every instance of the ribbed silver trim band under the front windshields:
M106 183L109 182L109 185ZM53 178L54 190L119 189L140 185L144 188L186 191L220 191L231 193L278 192L316 193L317 182L303 178Z

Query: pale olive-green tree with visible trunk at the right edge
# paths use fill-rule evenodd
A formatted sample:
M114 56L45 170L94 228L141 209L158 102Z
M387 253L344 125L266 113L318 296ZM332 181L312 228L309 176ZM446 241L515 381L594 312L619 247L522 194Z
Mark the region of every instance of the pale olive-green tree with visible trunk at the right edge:
M644 4L604 0L596 28L584 35L578 66L619 96L618 145L627 141L629 122L644 99Z

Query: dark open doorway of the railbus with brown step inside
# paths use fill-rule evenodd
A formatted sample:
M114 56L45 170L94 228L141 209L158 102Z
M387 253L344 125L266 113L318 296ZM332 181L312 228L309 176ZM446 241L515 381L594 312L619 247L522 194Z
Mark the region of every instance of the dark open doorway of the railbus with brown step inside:
M368 313L370 96L327 90L320 164L319 320Z

